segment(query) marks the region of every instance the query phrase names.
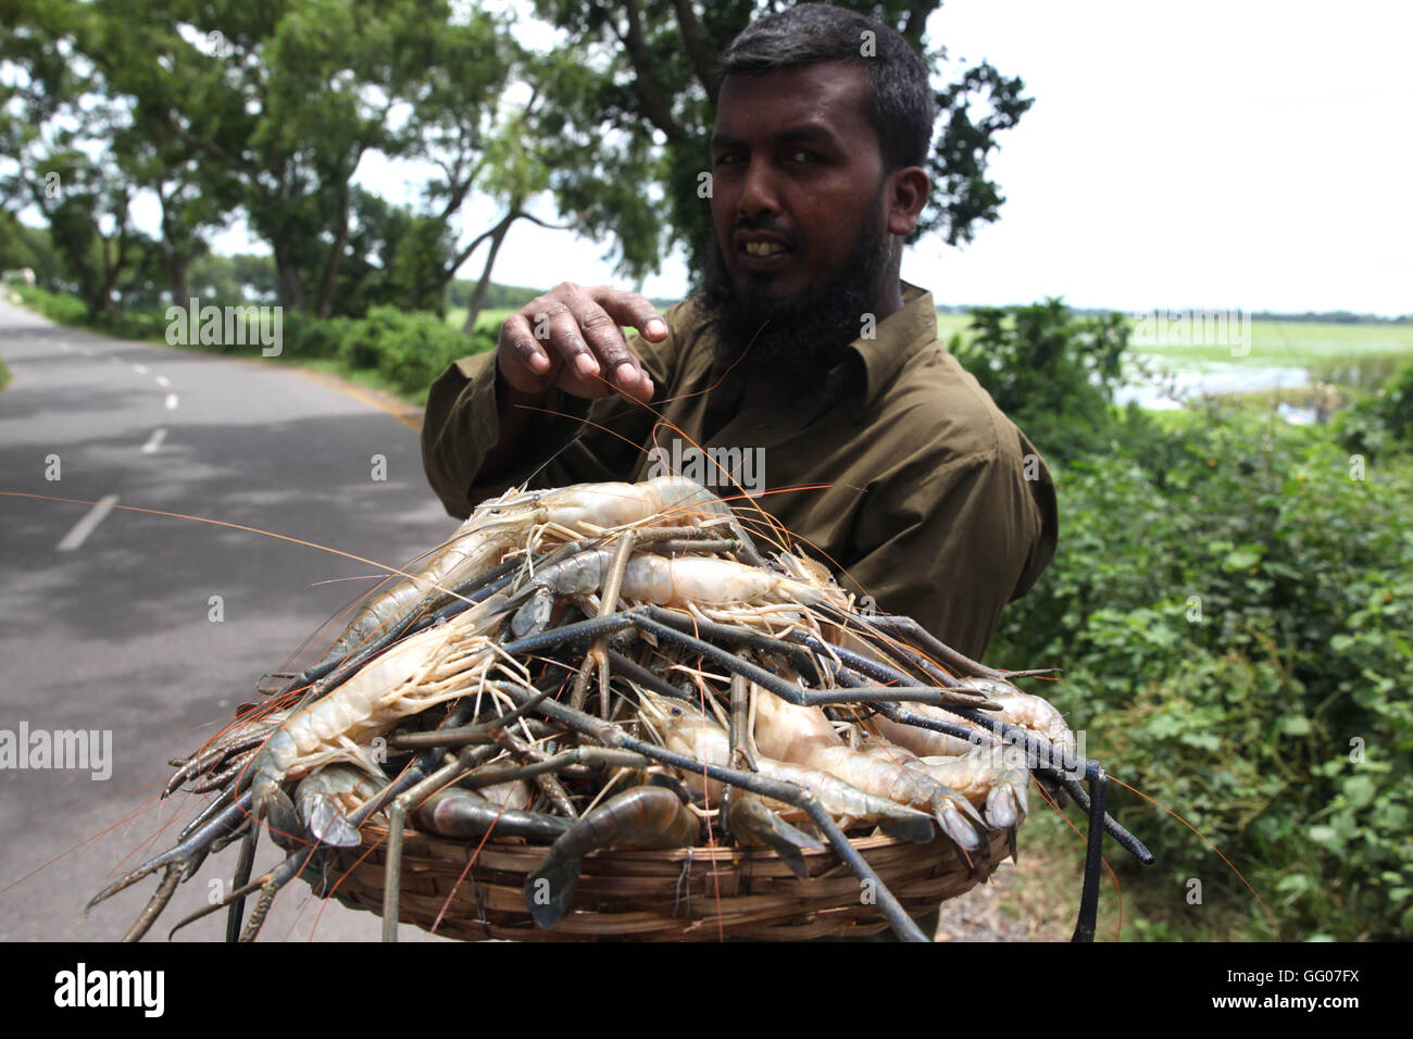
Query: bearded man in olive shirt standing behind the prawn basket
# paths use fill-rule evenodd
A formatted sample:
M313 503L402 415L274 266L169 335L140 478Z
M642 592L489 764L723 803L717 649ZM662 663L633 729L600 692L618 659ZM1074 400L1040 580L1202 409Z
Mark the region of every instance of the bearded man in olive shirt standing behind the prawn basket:
M528 304L495 355L432 386L428 479L465 516L531 478L636 481L690 458L726 496L764 488L736 502L747 523L769 510L879 609L981 657L1054 554L1056 502L937 342L931 295L899 280L928 196L927 71L887 27L815 4L746 28L722 71L705 291L666 314L569 283Z

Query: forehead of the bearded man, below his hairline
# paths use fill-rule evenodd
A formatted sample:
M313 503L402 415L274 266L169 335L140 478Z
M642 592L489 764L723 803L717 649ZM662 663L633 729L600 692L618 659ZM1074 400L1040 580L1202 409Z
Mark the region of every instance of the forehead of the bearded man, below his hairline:
M821 62L722 81L714 137L788 137L839 143L873 133L869 74L853 62Z

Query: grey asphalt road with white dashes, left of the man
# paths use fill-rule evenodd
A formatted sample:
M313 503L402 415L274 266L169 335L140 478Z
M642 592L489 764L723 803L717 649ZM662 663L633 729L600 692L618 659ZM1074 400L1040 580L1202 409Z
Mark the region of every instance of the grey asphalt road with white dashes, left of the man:
M112 739L106 779L0 766L0 940L116 940L155 878L88 917L85 902L201 806L157 800L167 759L199 746L254 698L263 673L384 573L126 509L244 524L383 567L427 551L455 520L427 488L408 425L261 360L259 346L226 359L120 342L0 300L0 359L13 373L0 392L0 492L85 502L0 493L0 741L21 725ZM116 507L88 505L103 500ZM261 844L257 872L280 858ZM148 940L229 891L235 857L232 847L208 859ZM223 927L215 915L177 940L219 940ZM297 881L261 939L374 940L379 929ZM408 926L401 936L424 937Z

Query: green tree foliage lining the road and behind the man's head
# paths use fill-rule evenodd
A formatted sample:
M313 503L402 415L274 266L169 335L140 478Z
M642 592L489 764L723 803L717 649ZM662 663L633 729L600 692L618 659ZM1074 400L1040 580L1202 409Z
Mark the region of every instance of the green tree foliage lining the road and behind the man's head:
M851 6L896 25L941 83L914 239L965 242L998 216L988 158L1030 105L1023 86L985 64L947 82L945 51L926 40L940 0ZM699 270L716 55L771 7L536 0L558 34L537 51L514 14L449 0L7 0L0 143L18 170L0 170L0 208L38 208L96 311L185 297L211 233L236 216L268 246L278 301L319 317L438 310L479 252L475 321L520 221L605 242L633 281L674 245ZM370 160L432 172L394 202L359 182ZM34 198L57 164L76 187L62 209ZM143 194L158 202L155 236L131 228ZM547 196L560 223L536 215ZM496 216L458 230L472 198Z

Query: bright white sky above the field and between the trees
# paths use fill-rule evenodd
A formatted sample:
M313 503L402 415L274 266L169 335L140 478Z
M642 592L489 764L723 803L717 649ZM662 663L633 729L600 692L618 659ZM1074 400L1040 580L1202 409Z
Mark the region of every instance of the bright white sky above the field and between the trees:
M1413 6L947 0L928 35L1036 99L992 163L1000 221L903 260L937 303L1413 312ZM374 158L357 180L410 199L418 172ZM493 219L468 206L465 237ZM239 226L215 245L266 252ZM520 222L495 278L623 284L605 252ZM674 256L623 287L685 283Z

